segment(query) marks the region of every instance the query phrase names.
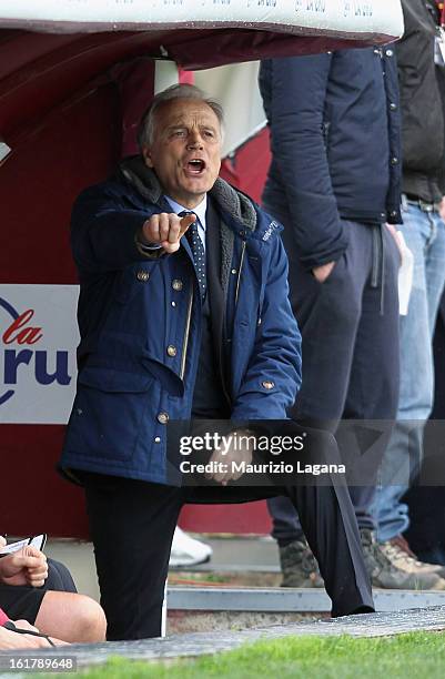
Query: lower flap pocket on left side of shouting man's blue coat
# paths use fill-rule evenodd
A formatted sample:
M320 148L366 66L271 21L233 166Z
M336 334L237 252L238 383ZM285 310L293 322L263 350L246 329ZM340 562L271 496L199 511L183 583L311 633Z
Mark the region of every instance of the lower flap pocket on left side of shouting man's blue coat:
M78 377L78 391L68 426L65 448L71 457L115 465L134 454L142 418L150 417L151 375L111 368L85 367Z

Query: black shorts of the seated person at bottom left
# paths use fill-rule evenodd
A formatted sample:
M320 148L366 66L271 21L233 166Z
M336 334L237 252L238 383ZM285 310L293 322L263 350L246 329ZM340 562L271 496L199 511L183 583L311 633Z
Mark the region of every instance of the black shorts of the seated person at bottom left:
M11 620L28 620L33 625L49 590L77 591L68 568L53 559L48 559L48 579L42 587L0 585L0 608Z

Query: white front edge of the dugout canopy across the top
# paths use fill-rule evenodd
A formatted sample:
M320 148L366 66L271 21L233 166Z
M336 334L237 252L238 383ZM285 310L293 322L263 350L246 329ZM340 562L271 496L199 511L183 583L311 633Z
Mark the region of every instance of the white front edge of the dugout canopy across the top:
M2 0L0 28L99 32L245 28L390 41L400 0Z

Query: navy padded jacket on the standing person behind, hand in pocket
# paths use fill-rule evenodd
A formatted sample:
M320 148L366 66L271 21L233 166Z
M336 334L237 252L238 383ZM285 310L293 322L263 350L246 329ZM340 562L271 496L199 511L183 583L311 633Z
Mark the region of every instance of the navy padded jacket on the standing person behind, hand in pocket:
M292 224L307 270L345 251L342 219L402 221L393 48L266 60L260 88L272 146L263 202Z

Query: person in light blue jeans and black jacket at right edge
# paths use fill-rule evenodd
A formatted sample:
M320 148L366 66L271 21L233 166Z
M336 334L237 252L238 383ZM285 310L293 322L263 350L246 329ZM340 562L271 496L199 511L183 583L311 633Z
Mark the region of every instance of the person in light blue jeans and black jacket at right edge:
M445 43L433 0L403 0L405 33L395 45L402 105L403 224L414 256L407 315L400 317L401 393L397 422L381 469L374 503L377 539L407 572L439 572L409 555L403 533L409 526L402 501L422 459L424 425L433 406L433 333L445 282Z

